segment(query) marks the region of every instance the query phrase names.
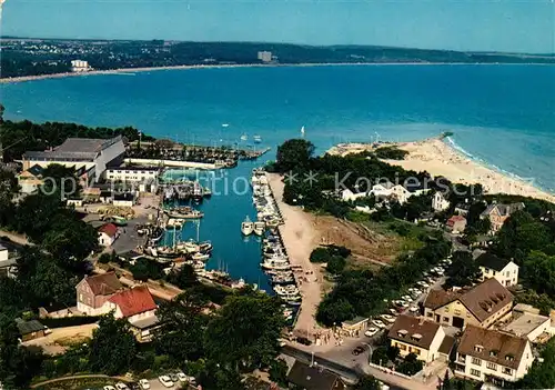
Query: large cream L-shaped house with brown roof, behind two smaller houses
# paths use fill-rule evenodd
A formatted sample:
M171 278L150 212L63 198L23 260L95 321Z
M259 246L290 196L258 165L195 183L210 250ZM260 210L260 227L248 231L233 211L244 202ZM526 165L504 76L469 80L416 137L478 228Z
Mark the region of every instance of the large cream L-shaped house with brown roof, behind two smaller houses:
M424 317L443 326L488 328L504 319L513 307L513 294L497 279L460 291L432 290L424 301Z

